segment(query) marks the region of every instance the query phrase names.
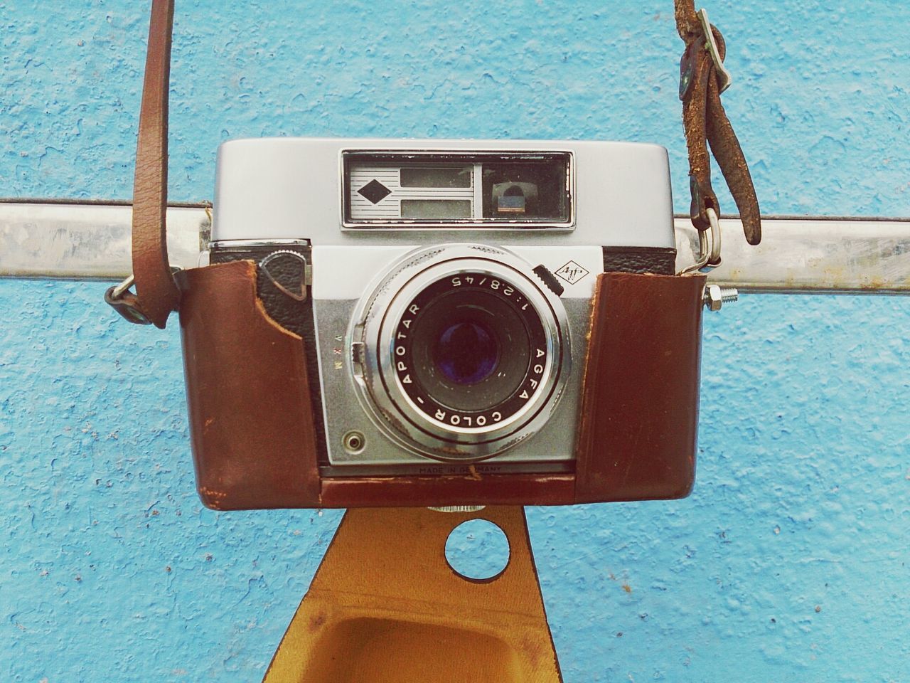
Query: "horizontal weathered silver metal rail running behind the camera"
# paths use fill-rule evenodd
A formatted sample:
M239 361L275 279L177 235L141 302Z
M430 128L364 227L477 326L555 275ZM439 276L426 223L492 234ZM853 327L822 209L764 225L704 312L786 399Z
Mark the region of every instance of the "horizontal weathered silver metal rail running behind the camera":
M122 280L130 271L126 203L0 201L0 277ZM203 204L167 210L172 265L197 266L210 227ZM723 263L709 280L740 291L910 294L910 219L768 217L750 247L735 217L721 219ZM676 219L677 265L698 236Z

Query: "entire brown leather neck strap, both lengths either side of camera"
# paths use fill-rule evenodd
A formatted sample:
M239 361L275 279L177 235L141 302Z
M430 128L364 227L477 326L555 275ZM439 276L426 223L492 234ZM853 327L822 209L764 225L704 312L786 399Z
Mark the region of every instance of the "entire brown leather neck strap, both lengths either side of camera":
M711 165L705 140L740 210L746 240L758 244L762 236L758 199L743 150L721 105L718 69L708 49L707 36L693 0L674 0L676 27L686 44L681 63L680 97L692 184L692 219L707 229L706 209L720 214L711 187ZM106 300L127 320L152 322L164 328L176 311L180 291L167 260L167 96L170 80L174 0L152 0L148 29L146 76L139 112L136 177L133 186L133 273L136 294L126 286L111 288ZM712 33L723 59L720 32Z

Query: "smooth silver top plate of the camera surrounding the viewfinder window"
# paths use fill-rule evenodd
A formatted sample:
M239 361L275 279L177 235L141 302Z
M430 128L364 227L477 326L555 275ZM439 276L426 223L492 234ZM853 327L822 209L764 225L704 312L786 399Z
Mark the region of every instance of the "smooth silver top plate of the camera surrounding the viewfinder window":
M401 194L399 186L379 188L395 203L386 219L377 213L351 215L351 188L346 158L385 155L379 162L399 168L398 158L430 159L429 166L451 168L460 160L478 167L465 189L440 194L439 178L424 179L416 193ZM489 220L480 211L480 162L486 158L568 159L565 184L569 200L559 215L540 219ZM471 159L473 158L473 160ZM443 161L440 163L440 159ZM469 163L470 162L470 163ZM428 166L423 162L423 166ZM361 164L355 171L373 168ZM364 188L371 182L363 176ZM399 178L400 180L400 178ZM404 183L399 182L399 185ZM420 183L419 183L420 184ZM528 190L529 184L511 183ZM375 186L373 189L376 189ZM369 194L369 190L364 190ZM429 192L430 195L426 193ZM504 194L502 189L492 192ZM362 193L361 193L362 194ZM464 195L462 198L461 195ZM474 196L473 209L467 201ZM421 213L425 197L445 199L450 214ZM463 199L463 200L462 200ZM523 199L499 197L500 210L516 211ZM536 195L532 197L536 199ZM405 209L400 201L410 201ZM520 202L519 204L514 203ZM370 202L368 201L367 204ZM363 138L255 138L231 140L218 148L212 240L294 240L314 246L413 244L470 240L466 232L483 230L487 240L501 244L561 244L634 247L675 247L672 227L670 171L666 149L630 142L569 140L410 140ZM441 206L441 203L437 203ZM465 207L462 213L461 207ZM449 209L447 209L449 210ZM409 211L417 213L409 214ZM347 213L347 215L346 215ZM413 218L413 216L418 218ZM430 216L430 219L420 219ZM447 218L450 216L450 218ZM366 217L366 218L364 218ZM409 218L410 217L410 218ZM367 228L367 229L364 229Z

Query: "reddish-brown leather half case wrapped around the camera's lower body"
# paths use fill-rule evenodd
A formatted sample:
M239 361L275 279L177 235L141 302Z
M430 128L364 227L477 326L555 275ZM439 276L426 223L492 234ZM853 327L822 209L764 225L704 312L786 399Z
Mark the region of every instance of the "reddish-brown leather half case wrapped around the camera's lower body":
M255 264L184 270L177 283L199 495L218 510L683 497L695 472L704 280L599 276L574 474L323 477L304 342L268 317Z

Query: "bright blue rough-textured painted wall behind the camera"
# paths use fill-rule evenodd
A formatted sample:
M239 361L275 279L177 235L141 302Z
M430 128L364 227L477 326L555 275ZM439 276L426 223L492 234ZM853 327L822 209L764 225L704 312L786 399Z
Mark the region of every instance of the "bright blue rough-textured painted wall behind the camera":
M178 2L171 198L227 138L606 138L670 148L685 210L671 5ZM910 8L707 6L763 209L910 214ZM146 3L0 29L0 194L128 197ZM0 680L258 680L339 513L203 509L177 331L105 287L0 281ZM910 681L908 330L882 297L707 316L693 496L529 510L567 683Z

